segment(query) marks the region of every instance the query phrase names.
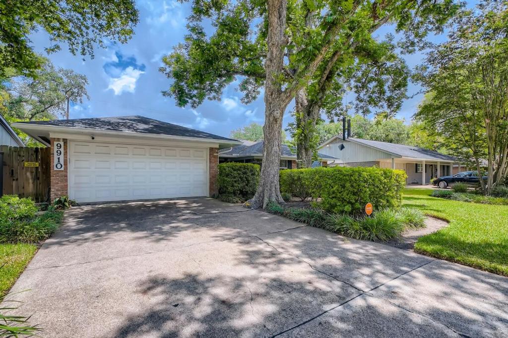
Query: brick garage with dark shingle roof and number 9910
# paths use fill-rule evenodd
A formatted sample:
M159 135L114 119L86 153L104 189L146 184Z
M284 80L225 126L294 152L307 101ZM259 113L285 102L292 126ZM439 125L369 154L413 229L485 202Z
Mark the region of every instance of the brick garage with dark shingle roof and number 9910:
M142 116L18 122L51 147L50 198L213 196L220 148L242 142Z

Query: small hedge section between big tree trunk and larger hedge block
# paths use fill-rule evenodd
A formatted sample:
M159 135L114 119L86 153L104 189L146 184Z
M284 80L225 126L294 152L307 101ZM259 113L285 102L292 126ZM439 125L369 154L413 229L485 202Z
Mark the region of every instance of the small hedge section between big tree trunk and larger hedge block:
M279 177L280 192L282 194L290 194L305 201L311 196L312 169L288 169L281 170Z

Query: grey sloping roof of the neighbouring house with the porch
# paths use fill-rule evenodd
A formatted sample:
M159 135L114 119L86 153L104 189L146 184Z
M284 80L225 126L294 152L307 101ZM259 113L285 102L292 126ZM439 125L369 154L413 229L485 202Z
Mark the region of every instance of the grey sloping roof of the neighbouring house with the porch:
M342 135L333 136L332 138L328 139L323 144L321 144L319 148L327 145L328 143L332 142L337 138L342 138ZM420 160L434 160L434 161L459 161L459 159L453 156L444 155L429 149L420 148L412 145L364 140L361 138L353 138L353 137L347 138L346 140L363 144L365 146L378 149L382 152L386 152L397 157L414 158Z

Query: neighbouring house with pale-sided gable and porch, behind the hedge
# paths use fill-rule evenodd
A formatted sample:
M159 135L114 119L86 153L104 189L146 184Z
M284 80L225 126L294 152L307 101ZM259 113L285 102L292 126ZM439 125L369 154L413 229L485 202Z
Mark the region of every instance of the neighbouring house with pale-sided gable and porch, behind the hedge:
M434 177L452 173L459 160L429 149L336 135L318 147L322 154L336 157L329 166L362 166L404 170L407 184L428 184Z

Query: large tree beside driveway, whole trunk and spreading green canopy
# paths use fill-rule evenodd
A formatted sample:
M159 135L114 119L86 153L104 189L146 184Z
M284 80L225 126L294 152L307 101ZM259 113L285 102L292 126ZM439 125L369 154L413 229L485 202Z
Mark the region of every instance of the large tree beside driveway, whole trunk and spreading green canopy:
M394 23L398 31L410 26L412 41L418 41L456 8L451 0L194 2L185 42L163 58L161 71L174 80L163 93L175 97L178 105L197 106L207 98L219 99L237 77L242 77L244 102L256 98L264 86L263 167L250 203L283 202L278 187L280 130L295 95L302 88L326 93L338 65L354 63L354 56L363 55L360 46L369 50L371 33L379 25ZM210 35L203 28L208 21L214 28Z

